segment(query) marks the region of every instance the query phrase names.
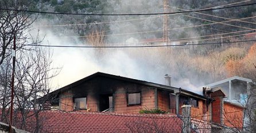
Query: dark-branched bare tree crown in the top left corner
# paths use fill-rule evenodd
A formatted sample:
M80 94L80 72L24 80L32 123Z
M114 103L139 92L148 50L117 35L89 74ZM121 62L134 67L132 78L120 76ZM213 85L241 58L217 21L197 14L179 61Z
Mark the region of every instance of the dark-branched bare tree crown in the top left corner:
M14 36L17 39L17 48L24 48L24 44L28 41L28 32L33 22L36 20L36 15L15 11L26 10L29 7L29 1L0 1L0 65L3 63L11 52Z

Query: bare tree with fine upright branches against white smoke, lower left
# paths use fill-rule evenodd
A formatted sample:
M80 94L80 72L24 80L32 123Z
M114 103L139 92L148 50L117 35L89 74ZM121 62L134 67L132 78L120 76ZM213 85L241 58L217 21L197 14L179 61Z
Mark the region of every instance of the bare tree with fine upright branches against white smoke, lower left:
M14 97L14 126L22 130L40 132L44 118L41 111L48 109L55 97L49 97L49 80L57 75L57 68L52 68L52 54L47 49L39 47L33 50L20 50L17 52L17 67L15 71L15 97ZM9 65L6 65L9 66ZM2 69L3 71L3 69ZM10 90L10 72L5 69L8 77L0 90ZM3 71L4 72L4 71ZM9 123L10 91L1 93L1 121ZM44 98L42 98L44 96Z

